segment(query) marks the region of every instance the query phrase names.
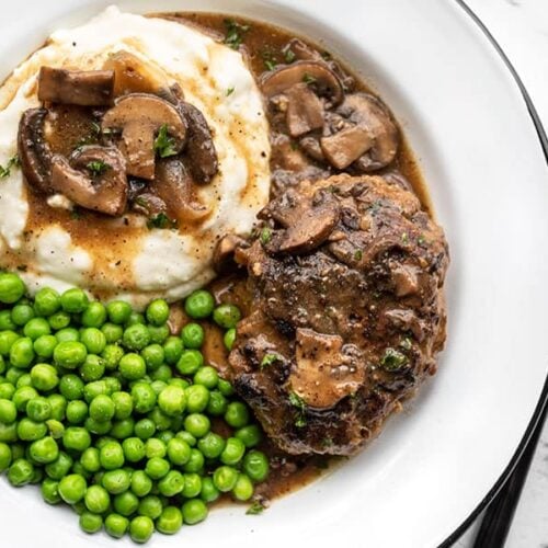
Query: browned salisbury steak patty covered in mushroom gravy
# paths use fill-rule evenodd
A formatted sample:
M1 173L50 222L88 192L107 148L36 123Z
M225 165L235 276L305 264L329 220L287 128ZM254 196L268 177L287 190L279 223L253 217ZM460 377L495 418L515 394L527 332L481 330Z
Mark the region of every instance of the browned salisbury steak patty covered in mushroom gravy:
M236 251L253 313L238 326L232 381L282 449L349 455L436 370L443 231L380 176L302 182L260 218Z

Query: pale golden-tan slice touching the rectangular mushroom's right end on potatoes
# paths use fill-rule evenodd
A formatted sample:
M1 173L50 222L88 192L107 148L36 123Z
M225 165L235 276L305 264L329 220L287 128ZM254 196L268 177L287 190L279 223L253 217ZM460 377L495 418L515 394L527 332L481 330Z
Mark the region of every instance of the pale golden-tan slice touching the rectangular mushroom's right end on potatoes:
M170 102L176 100L167 75L129 52L121 50L106 59L103 68L114 71L114 96L129 93L153 93Z

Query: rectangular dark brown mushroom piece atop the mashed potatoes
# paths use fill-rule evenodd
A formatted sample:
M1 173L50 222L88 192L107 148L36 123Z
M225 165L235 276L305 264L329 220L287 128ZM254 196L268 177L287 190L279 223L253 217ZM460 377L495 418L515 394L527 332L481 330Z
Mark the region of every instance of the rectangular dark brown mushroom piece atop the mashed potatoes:
M67 70L42 67L38 99L52 103L105 106L112 103L112 70Z

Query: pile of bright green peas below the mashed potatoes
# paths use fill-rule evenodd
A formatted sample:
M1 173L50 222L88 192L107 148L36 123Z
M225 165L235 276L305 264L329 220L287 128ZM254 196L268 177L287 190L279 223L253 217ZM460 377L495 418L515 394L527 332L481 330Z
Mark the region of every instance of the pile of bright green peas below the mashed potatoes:
M222 328L229 350L237 307L194 292L193 321L174 336L161 299L139 313L78 288L25 295L16 274L0 273L0 472L12 486L39 484L85 533L136 543L204 521L224 493L252 498L269 475L262 432L204 363L195 321Z

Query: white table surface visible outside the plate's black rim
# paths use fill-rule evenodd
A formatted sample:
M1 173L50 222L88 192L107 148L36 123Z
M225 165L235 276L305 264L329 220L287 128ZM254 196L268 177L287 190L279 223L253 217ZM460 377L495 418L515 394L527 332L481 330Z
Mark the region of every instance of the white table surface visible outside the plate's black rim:
M548 130L548 0L467 0L467 3L506 53ZM475 523L455 548L471 548L477 528ZM548 423L505 548L548 548Z

